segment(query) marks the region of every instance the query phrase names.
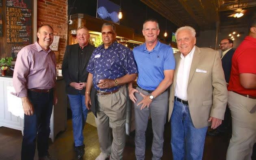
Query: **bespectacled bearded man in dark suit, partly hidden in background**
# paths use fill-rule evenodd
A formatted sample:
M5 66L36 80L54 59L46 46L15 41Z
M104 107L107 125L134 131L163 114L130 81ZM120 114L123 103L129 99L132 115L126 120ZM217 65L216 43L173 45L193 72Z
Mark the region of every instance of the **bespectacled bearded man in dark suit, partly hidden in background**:
M222 53L221 53L222 68L224 70L225 80L226 80L226 83L228 86L230 72L231 72L231 66L232 66L232 64L231 64L232 57L233 57L233 54L235 51L235 49L233 48L233 40L230 38L225 38L225 39L221 40L219 46L222 51ZM227 107L222 124L215 130L209 130L207 132L207 134L209 136L218 136L219 134L224 132L224 130L228 129L228 127L230 126L229 125L230 122L231 122L230 109L228 109L228 107Z

